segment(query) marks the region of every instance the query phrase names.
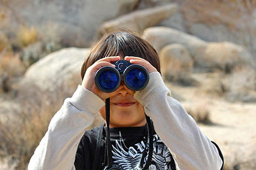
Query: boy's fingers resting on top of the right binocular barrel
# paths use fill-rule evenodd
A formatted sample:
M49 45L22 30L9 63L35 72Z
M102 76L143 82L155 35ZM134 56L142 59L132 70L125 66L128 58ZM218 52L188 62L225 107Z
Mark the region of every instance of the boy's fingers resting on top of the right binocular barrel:
M152 66L150 62L140 57L126 56L124 57L124 59L131 62L131 64L139 64L145 67L148 71L148 74L157 71L157 69L154 66Z

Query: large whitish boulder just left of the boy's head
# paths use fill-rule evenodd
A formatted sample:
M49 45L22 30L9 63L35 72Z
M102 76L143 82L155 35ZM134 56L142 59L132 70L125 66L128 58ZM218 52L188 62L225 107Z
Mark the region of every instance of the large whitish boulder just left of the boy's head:
M22 84L32 83L49 92L77 87L81 83L80 71L89 51L88 48L65 48L53 52L28 68Z

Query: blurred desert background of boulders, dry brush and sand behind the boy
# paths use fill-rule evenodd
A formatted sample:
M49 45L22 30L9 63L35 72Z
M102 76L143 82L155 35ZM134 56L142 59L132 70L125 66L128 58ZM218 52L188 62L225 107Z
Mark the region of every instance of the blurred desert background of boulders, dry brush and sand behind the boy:
M256 169L256 1L0 0L0 169L26 169L106 32L159 53L172 96L218 143L225 169ZM97 125L100 122L96 122Z

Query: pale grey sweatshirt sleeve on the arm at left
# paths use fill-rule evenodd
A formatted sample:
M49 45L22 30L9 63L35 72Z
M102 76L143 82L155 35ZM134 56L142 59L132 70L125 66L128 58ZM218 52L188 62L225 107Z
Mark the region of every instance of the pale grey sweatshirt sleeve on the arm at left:
M44 138L29 161L28 170L75 169L79 141L104 105L102 99L79 85L52 118Z

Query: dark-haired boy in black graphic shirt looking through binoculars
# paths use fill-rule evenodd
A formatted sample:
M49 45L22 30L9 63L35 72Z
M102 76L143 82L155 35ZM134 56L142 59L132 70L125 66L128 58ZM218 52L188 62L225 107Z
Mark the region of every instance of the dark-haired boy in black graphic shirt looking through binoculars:
M150 78L145 89L135 92L123 82L111 93L97 88L95 73L104 66L115 67L113 62L120 59L147 69ZM171 97L161 78L159 57L147 41L125 31L108 34L92 48L81 69L81 77L83 82L74 95L65 100L52 118L28 169L104 169L109 164L119 169L223 167L218 146ZM106 144L108 131L103 127L84 132L98 113L106 120L108 98L109 145ZM145 115L154 122L151 149L150 122ZM108 154L109 146L112 149Z

